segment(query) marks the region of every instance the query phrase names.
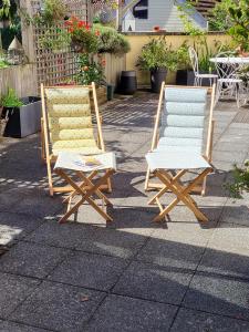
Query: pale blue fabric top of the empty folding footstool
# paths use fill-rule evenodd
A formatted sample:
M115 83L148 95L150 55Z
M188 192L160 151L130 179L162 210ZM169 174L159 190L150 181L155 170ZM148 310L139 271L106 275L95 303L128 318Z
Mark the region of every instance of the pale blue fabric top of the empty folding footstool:
M211 167L208 162L198 153L178 153L155 151L146 156L148 167L155 169L199 169Z

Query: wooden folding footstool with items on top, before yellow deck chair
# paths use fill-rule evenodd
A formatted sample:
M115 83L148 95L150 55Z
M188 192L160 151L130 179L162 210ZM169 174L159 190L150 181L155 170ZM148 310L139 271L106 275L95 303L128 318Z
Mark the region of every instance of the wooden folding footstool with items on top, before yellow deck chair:
M61 152L54 172L73 187L73 191L63 200L68 203L68 209L59 220L60 224L65 222L84 203L89 203L106 221L113 220L104 210L104 206L112 206L112 203L102 193L101 186L116 172L114 153L85 156ZM80 198L73 201L79 196ZM102 199L102 207L95 203L93 196Z

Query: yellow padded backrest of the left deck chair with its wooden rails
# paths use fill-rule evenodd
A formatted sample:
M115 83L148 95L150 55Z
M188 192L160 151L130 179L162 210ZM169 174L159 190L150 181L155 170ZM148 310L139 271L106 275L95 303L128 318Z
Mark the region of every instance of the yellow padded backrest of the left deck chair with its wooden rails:
M104 151L95 86L42 86L43 121L52 153L60 151L94 154ZM94 111L91 112L90 93L94 96ZM92 113L97 122L100 148L94 137Z

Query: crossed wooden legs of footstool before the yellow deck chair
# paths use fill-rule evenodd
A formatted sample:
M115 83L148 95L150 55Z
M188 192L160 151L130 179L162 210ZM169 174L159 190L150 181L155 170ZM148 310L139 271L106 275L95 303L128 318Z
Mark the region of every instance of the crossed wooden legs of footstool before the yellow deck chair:
M68 209L65 215L59 220L60 224L65 222L72 214L74 214L81 205L87 201L106 221L112 221L112 217L104 211L104 204L112 206L112 203L108 198L101 191L100 187L106 183L107 179L114 174L114 169L107 169L105 174L93 184L93 178L97 175L97 170L92 172L89 176L86 176L82 172L76 172L77 177L81 179L81 183L75 183L63 169L58 168L54 170L60 177L62 177L69 185L74 189L63 203L68 203ZM75 196L81 196L81 198L71 207L72 199ZM93 195L96 195L102 199L103 206L102 208L96 205Z

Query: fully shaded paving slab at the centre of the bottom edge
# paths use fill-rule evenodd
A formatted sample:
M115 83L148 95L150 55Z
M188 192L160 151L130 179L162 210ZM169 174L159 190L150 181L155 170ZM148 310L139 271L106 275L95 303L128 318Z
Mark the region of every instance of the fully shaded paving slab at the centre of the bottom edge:
M91 320L87 332L169 331L176 307L110 295Z

